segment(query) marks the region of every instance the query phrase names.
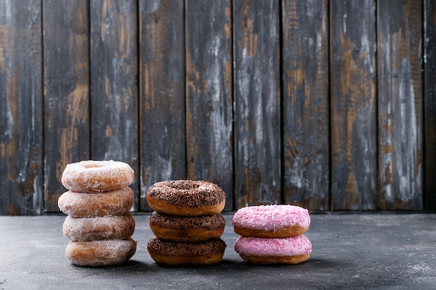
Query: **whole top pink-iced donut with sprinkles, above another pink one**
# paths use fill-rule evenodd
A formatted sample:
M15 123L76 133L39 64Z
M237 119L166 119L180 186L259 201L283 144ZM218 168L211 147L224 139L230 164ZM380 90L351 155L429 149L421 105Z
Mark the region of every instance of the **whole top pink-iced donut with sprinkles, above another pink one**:
M241 236L286 238L309 229L309 211L289 204L242 207L233 215L233 229Z

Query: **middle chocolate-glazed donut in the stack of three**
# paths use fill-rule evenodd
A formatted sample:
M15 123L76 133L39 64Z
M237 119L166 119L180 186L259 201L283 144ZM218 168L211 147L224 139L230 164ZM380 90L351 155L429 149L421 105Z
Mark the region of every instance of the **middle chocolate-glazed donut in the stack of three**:
M169 216L153 211L150 229L158 239L166 241L198 242L216 239L226 226L222 214L214 216Z

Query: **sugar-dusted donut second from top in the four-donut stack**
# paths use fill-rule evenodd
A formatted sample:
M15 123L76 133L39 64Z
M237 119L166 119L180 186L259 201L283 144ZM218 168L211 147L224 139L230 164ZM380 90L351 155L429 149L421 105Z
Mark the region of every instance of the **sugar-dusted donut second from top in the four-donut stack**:
M104 193L67 191L58 199L58 207L68 216L122 216L132 208L134 194L129 186Z

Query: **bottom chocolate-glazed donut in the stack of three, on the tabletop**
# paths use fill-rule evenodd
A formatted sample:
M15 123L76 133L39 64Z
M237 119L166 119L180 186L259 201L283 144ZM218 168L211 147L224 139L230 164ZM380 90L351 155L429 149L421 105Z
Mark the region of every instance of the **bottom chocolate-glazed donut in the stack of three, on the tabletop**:
M210 265L219 263L226 250L223 240L210 239L196 243L163 241L156 236L148 241L148 252L158 264Z

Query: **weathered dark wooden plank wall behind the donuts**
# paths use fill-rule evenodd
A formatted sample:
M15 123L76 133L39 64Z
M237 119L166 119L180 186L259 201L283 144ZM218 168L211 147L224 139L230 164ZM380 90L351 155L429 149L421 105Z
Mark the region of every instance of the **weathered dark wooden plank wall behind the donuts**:
M434 0L0 0L0 215L66 164L205 179L226 211L436 211Z

